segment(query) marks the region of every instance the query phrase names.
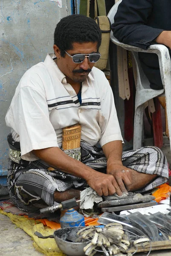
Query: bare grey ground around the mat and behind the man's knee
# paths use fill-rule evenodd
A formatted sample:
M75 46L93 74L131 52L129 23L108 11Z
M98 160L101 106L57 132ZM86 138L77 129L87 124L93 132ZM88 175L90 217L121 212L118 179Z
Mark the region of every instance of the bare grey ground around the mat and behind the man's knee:
M152 145L151 140L145 142ZM171 164L171 152L168 139L164 138L162 151L165 153L168 163ZM0 214L0 256L43 256L35 250L32 240L23 230L12 224L11 220ZM147 253L136 253L136 256L146 256ZM153 251L150 256L171 256L171 250Z

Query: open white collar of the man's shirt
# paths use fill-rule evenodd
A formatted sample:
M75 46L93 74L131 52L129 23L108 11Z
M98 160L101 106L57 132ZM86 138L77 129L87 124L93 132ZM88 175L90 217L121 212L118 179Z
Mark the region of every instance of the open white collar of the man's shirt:
M66 80L66 76L61 72L61 70L58 68L57 64L55 63L55 61L53 60L54 58L56 58L56 55L53 53L48 53L46 56L46 59L44 61L44 63L51 67L54 68L54 71L56 72L58 79L60 80L61 83L63 84L67 84L67 80ZM90 78L92 81L94 81L93 76L91 75L91 72L88 74L88 78Z

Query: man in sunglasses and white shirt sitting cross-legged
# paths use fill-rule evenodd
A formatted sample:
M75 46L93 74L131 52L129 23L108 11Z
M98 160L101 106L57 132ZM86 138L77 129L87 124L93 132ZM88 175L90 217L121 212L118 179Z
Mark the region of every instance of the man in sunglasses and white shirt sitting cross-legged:
M30 68L17 86L6 124L11 128L8 188L20 209L38 211L79 198L87 185L99 195L122 195L147 191L168 179L159 148L122 153L110 84L93 67L100 44L101 31L93 19L64 17L55 29L55 54ZM61 149L63 128L77 123L81 161Z

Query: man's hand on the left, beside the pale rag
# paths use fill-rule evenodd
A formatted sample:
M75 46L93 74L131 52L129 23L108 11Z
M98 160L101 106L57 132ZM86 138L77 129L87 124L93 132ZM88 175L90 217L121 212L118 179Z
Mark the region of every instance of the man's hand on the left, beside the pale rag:
M113 195L116 192L119 196L122 195L122 191L113 175L97 172L97 175L93 174L87 179L87 183L100 196Z

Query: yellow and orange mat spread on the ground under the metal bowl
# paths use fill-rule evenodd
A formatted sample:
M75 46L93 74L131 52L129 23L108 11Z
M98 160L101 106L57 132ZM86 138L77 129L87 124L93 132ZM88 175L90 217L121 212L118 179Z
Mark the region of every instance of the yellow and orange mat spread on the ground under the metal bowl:
M41 239L34 233L40 232L43 236L49 236L54 230L61 228L61 225L49 219L29 218L29 212L20 211L10 200L0 201L0 213L8 216L11 221L24 230L33 239L33 246L46 256L65 256L53 238ZM97 219L85 218L86 226L97 225Z

